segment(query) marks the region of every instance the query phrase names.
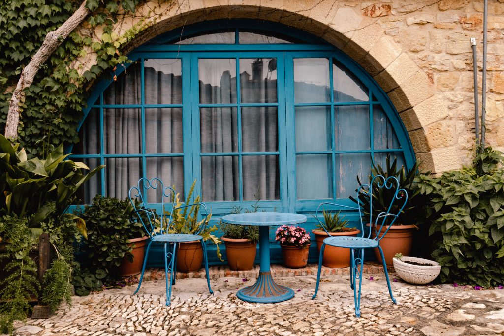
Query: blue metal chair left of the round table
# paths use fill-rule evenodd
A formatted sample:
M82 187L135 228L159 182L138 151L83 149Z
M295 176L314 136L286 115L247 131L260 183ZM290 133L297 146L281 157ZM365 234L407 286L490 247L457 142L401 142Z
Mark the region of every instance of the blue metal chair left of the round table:
M156 212L147 207L147 203L145 202L144 194L147 190L153 189L160 193L161 196L161 215L156 214ZM172 214L176 209L182 209L192 206L200 206L204 212L205 216L208 217L207 207L203 203L194 203L194 204L186 204L180 207L174 207L175 205L175 191L170 187L164 187L163 181L159 178L154 177L152 179L148 179L142 177L138 181L138 186L134 186L130 189L129 197L131 204L135 208L135 212L137 213L139 221L144 226L145 231L147 232L149 239L149 244L147 245L147 250L145 252L144 264L142 266L142 275L140 276L140 282L138 284L138 288L133 293L134 295L140 290L140 286L142 286L142 280L144 279L145 265L147 264L147 258L149 256L149 249L152 243L161 243L164 244L164 270L165 270L165 279L166 279L166 305L170 305L171 300L171 286L175 285L175 276L176 276L176 260L177 260L177 245L181 242L199 240L201 241L201 245L203 247L203 257L205 262L205 272L207 274L207 285L210 294L213 294L212 288L210 287L210 277L208 275L208 257L207 257L207 247L205 242L203 241L203 237L199 234L204 230L204 226L198 230L196 234L181 234L181 233L167 233L170 225L172 223ZM168 221L165 219L165 198L168 199L171 197L171 208L170 217ZM141 208L137 208L137 205L134 201L135 198L140 199ZM159 223L159 224L158 224ZM164 227L164 224L165 227ZM169 261L168 261L169 259ZM168 287L168 272L170 273L170 284Z

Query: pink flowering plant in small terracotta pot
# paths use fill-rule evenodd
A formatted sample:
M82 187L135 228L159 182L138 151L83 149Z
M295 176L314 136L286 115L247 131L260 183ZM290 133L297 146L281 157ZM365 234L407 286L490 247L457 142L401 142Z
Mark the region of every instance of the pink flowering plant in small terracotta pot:
M290 268L300 268L308 263L308 251L311 245L310 235L299 226L282 225L275 233L275 240L280 242L284 263Z

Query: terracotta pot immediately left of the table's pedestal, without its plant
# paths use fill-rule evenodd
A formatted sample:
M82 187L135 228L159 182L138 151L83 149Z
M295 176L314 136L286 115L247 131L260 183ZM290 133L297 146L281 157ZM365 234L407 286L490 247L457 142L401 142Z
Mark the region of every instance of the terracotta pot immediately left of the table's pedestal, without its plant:
M249 239L233 239L221 237L226 245L226 256L229 268L233 271L246 271L254 267L256 259L257 241Z

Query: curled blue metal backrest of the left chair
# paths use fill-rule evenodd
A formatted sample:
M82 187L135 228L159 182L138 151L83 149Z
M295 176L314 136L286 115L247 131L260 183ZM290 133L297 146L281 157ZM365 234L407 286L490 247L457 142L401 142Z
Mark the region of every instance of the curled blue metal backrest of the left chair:
M149 189L156 190L161 196L161 214L157 214L154 210L147 206L145 193ZM142 177L138 180L137 186L130 188L128 196L139 221L142 223L149 236L166 233L168 228L164 227L164 224L171 223L171 218L168 222L165 222L165 200L168 200L169 197L171 197L171 209L173 209L173 205L175 203L175 190L170 187L165 187L163 181L157 177L153 177L150 180L146 177ZM140 200L140 207L137 207L135 203L136 198ZM159 225L157 224L157 221L159 221ZM161 228L159 232L155 231L157 226Z

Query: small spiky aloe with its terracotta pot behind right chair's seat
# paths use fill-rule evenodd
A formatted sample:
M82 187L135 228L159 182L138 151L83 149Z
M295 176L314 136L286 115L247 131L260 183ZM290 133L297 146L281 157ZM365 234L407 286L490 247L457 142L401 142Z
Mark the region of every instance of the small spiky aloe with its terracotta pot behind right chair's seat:
M348 227L348 220L345 220L344 217L341 218L339 211L333 215L331 211L323 210L322 214L324 216L324 223L317 224L317 229L311 230L315 235L319 253L324 239L328 237L326 231L328 231L331 236L357 236L360 233L359 229ZM350 249L326 246L322 264L326 267L333 268L350 267Z

